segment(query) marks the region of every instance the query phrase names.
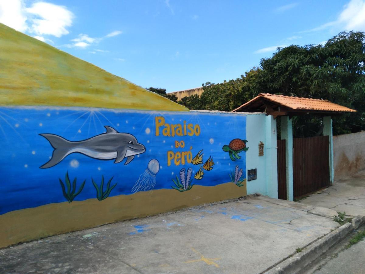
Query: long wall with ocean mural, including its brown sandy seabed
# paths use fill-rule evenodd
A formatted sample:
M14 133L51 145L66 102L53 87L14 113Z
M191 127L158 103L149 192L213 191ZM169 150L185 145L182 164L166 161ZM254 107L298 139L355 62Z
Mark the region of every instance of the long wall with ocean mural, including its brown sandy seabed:
M260 117L0 107L0 246L244 196Z

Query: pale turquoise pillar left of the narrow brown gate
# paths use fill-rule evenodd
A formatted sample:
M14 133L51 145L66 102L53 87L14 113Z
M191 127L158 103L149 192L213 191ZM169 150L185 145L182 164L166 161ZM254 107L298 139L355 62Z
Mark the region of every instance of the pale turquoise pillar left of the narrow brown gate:
M272 115L268 115L265 118L266 195L278 198L276 120L274 120Z

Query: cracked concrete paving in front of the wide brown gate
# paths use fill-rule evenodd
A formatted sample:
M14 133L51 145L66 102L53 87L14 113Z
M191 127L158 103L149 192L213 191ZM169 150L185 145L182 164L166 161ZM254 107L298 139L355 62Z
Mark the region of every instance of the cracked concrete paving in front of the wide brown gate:
M346 212L349 216L365 216L365 171L338 180L333 186L310 195L300 203Z

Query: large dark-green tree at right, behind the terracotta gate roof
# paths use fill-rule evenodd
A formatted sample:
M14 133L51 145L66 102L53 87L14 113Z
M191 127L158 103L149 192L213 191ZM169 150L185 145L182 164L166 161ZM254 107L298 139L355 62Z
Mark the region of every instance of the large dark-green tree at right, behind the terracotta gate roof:
M357 113L334 117L334 134L365 129L365 33L341 32L324 45L291 45L261 60L261 92L328 99ZM321 133L318 117L297 117L296 137Z

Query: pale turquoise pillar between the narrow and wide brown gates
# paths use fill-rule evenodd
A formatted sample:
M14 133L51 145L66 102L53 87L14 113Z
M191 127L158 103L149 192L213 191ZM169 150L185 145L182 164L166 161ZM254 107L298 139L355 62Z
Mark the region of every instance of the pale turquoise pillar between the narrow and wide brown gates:
M281 140L285 141L285 160L287 170L287 200L293 201L293 126L288 116L281 116Z

